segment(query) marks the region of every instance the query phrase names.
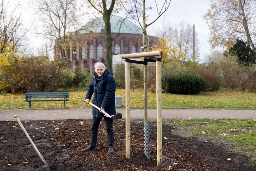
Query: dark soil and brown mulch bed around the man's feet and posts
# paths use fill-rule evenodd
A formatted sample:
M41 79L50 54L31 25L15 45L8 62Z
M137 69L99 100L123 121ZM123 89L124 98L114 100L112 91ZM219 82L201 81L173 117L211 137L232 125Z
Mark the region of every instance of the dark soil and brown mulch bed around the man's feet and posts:
M114 120L114 150L107 153L102 120L96 151L82 153L90 142L91 120L22 121L51 171L256 171L250 159L209 137L185 137L181 128L162 126L162 165L156 166L156 126L150 123L150 160L144 156L143 122L131 123L131 159L125 157L125 122ZM44 163L15 121L0 122L0 170L42 171ZM226 160L230 158L231 160Z

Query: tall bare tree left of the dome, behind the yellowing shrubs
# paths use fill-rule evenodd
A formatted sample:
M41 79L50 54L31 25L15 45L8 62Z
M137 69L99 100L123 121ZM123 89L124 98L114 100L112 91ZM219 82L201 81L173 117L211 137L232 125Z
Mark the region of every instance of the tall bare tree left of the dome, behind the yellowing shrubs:
M35 7L44 29L38 34L57 44L65 60L68 60L68 39L78 27L76 5L76 0L37 0Z

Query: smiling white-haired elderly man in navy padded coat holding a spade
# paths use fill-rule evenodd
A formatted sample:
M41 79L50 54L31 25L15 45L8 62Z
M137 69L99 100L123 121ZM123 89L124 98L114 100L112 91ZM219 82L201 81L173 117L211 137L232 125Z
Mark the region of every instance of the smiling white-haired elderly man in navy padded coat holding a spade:
M92 94L94 93L94 98L92 103L98 107L97 110L95 107L92 108L92 127L91 127L91 141L90 145L83 149L82 152L87 152L95 150L97 138L98 138L98 127L102 117L104 117L107 135L108 135L108 153L114 152L114 131L113 131L113 119L104 116L101 112L106 111L108 114L116 114L115 106L115 91L116 91L116 82L113 76L110 74L110 71L106 69L106 66L103 63L97 62L94 65L95 73L94 78L92 79L88 91L85 97L85 102L89 103Z

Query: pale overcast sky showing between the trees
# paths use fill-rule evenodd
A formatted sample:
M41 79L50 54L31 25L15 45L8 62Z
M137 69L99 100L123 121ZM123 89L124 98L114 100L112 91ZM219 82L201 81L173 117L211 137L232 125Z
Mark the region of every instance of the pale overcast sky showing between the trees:
M163 2L164 0L156 0L157 2ZM36 16L31 7L31 0L10 0L11 4L20 2L22 7L22 23L24 27L33 27L36 25ZM155 7L154 0L146 0L148 5ZM10 5L11 5L10 4ZM171 0L171 5L169 9L165 12L164 16L155 22L153 25L148 27L149 33L152 34L152 30L158 26L161 26L163 20L171 23L179 23L185 21L191 25L195 25L195 30L198 33L199 39L199 51L200 58L204 60L207 54L210 53L210 44L209 39L209 29L206 21L203 20L203 15L206 14L207 10L210 7L210 0ZM152 10L154 11L154 10ZM151 14L151 17L154 18L154 14ZM86 20L82 20L86 24ZM28 42L30 45L28 49L31 51L36 51L38 48L44 46L44 39L33 34L33 29L30 30L29 35L27 36Z

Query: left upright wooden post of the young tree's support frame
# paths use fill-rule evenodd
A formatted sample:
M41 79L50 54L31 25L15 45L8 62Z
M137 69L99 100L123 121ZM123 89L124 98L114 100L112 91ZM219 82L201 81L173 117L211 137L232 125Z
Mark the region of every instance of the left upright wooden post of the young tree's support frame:
M126 159L130 159L130 63L125 62L126 74Z

